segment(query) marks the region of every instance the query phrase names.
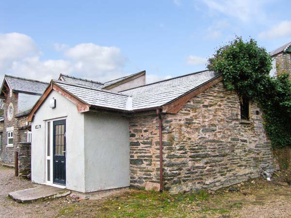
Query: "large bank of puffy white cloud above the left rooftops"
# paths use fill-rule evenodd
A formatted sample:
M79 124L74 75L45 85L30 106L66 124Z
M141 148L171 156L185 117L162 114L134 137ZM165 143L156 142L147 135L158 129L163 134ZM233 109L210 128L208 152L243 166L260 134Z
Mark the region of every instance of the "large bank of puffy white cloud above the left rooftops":
M74 47L54 44L64 58L41 60L42 53L31 37L20 33L0 34L0 77L19 77L49 81L60 73L108 81L125 76L127 59L118 47L82 43Z

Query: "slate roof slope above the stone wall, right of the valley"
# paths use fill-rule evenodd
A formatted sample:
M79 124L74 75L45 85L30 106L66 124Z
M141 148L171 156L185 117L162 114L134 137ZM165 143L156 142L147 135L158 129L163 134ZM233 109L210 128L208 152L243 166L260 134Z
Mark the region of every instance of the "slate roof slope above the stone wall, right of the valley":
M129 89L120 93L128 94L132 98L133 110L153 108L175 100L184 93L192 91L216 76L216 73L213 71L200 71Z

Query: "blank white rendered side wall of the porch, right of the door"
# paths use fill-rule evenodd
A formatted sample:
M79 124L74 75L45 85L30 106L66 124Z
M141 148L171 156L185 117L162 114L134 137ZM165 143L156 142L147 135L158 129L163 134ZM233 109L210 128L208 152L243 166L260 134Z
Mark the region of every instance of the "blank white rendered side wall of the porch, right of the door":
M129 186L129 122L115 114L84 113L85 192Z

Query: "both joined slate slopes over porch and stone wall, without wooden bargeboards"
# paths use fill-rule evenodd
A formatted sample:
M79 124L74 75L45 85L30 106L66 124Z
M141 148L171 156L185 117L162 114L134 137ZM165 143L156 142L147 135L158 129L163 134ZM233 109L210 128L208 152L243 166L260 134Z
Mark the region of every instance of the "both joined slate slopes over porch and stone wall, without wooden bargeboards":
M94 89L67 81L53 80L53 82L88 105L131 111L162 106L217 76L213 71L201 71L120 93Z

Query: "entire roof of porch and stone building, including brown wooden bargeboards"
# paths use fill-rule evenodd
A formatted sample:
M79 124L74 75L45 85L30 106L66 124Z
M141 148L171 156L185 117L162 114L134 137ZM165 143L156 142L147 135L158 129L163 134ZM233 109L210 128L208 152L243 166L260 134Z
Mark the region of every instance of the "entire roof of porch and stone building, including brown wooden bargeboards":
M79 107L79 112L88 111L90 108L134 112L169 106L172 102L177 102L176 100L178 99L183 99L182 102L185 103L193 94L202 92L216 82L221 81L221 79L221 74L217 75L213 71L206 70L166 79L119 93L100 88L95 89L67 81L51 80L51 85L48 86L45 93L32 108L29 119L32 119L33 113L40 107L51 90L55 90L75 102L77 108ZM178 105L172 111L177 111L179 107Z

